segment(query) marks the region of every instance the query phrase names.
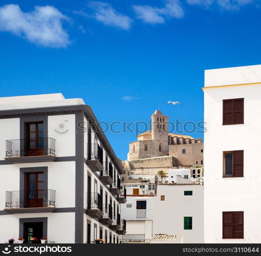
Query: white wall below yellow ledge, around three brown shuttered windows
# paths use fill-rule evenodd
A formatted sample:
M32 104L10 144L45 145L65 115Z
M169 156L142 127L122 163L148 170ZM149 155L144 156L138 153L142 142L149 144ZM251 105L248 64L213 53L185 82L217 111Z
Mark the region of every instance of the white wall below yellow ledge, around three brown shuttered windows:
M233 98L244 98L244 124L222 125L222 100ZM260 99L261 83L204 90L206 243L261 242ZM223 178L223 152L234 150L244 150L244 177ZM222 239L222 211L244 211L244 239Z

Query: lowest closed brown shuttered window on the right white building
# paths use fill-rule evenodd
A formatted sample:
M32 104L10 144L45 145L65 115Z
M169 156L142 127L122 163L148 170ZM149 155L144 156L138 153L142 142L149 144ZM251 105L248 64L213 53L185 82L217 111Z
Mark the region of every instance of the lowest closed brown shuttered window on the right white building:
M223 239L244 238L244 211L223 211Z

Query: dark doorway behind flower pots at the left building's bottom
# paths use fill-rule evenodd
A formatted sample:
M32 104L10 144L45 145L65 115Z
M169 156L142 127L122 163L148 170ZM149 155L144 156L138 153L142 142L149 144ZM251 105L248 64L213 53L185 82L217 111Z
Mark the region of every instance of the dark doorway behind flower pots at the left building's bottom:
M42 222L29 222L24 223L24 243L31 242L31 238L37 238L37 243L41 243L41 238L43 237L43 223Z

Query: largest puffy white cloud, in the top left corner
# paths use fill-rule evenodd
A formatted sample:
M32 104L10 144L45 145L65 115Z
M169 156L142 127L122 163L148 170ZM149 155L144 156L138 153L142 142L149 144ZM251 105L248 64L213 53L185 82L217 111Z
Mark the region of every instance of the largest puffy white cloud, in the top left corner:
M66 48L70 44L62 20L69 18L53 6L35 6L31 12L23 12L12 4L0 7L0 31L11 32L39 46Z

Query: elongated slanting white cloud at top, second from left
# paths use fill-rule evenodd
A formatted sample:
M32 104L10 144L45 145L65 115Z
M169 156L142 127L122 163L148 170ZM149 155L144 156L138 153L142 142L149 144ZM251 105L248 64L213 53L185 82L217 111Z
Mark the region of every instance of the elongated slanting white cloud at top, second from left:
M91 1L88 6L95 11L92 17L106 26L117 27L122 30L129 30L132 27L133 20L117 12L110 4Z

